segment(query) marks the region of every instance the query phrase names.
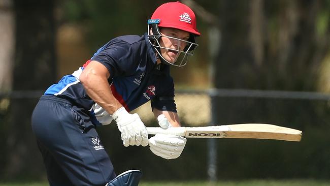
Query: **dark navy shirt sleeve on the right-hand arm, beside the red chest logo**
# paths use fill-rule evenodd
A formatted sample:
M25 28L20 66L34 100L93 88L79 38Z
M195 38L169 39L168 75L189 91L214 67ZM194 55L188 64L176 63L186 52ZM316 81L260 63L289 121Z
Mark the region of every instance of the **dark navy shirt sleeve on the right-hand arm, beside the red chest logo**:
M155 96L151 100L151 109L154 108L162 111L176 112L177 107L174 101L174 83L172 80L171 88L165 91L163 94Z

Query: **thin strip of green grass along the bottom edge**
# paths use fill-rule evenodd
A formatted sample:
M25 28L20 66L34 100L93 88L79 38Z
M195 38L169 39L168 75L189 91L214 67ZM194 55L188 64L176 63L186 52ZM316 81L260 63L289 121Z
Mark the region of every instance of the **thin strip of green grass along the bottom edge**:
M47 182L1 183L0 186L47 186ZM330 186L330 180L246 180L219 181L216 183L203 181L187 182L144 182L139 186Z

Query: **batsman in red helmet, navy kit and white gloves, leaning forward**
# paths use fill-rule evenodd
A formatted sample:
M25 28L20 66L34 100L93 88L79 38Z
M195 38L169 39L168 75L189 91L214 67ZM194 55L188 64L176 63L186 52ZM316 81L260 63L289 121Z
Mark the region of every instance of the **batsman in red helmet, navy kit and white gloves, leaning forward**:
M102 46L82 67L51 85L32 113L32 130L50 185L139 184L142 172L115 174L96 127L114 120L124 146L150 146L164 159L178 158L186 139L157 134L148 139L138 114L150 101L180 127L170 66L182 67L198 46L193 11L180 2L159 6L143 36L121 36ZM171 127L170 126L170 127Z

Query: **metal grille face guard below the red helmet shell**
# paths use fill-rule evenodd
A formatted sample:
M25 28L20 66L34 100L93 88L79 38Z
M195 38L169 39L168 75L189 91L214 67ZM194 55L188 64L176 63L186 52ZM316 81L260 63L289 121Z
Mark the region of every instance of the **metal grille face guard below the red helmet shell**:
M187 41L179 39L179 38L174 38L170 36L165 36L160 33L158 23L160 22L159 19L149 19L148 20L148 38L150 44L154 47L155 51L157 52L157 55L160 59L160 61L163 64L167 65L173 65L176 67L183 67L187 64L188 57L193 55L194 49L198 46L195 42L195 36L190 33L190 37ZM151 31L152 30L152 34ZM159 40L161 37L166 37L169 38L172 42L177 42L177 45L179 46L178 49L172 49L172 48L166 48L164 46L161 46L159 43ZM185 43L184 48L180 48L180 43ZM171 50L176 52L176 57L173 61L168 61L161 55L161 49L164 50Z

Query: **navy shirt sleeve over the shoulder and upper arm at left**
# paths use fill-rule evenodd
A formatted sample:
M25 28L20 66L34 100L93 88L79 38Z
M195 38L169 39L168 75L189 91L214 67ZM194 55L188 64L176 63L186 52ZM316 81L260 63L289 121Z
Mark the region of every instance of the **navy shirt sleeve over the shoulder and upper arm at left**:
M138 65L135 62L137 60L134 60L130 44L120 40L107 43L94 54L91 60L100 62L108 69L109 79L119 75L127 75Z

